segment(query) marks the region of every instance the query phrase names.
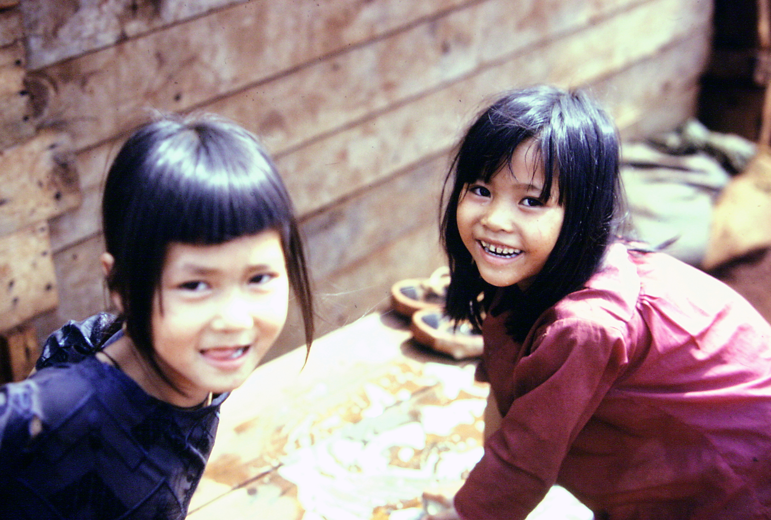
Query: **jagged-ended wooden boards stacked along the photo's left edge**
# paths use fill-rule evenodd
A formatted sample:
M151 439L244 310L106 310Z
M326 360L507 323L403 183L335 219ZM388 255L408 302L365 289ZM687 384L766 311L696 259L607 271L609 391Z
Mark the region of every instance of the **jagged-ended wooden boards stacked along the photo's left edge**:
M38 354L30 320L56 309L48 220L76 208L69 136L45 124L49 84L29 72L18 0L0 2L0 367L29 374Z

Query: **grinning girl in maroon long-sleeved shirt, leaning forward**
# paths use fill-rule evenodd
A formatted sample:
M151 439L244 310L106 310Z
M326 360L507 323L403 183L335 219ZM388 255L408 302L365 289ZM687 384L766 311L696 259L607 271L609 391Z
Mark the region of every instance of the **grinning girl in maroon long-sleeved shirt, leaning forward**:
M771 518L771 327L616 239L611 119L581 93L510 92L448 186L446 312L481 327L490 398L483 458L434 518L525 518L555 483L595 518Z

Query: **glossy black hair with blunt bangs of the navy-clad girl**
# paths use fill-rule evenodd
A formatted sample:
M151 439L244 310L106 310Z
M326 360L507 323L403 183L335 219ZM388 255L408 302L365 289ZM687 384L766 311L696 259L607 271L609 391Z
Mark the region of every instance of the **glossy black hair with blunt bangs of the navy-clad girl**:
M150 321L173 242L209 245L278 231L310 347L311 290L291 200L258 139L241 126L210 115L143 126L109 169L102 216L106 250L115 259L107 285L123 306L116 327L125 324L163 379Z

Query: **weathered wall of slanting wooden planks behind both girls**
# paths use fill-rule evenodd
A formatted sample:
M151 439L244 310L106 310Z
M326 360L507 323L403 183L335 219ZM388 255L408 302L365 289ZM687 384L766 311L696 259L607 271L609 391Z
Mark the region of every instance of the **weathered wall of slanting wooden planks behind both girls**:
M123 139L158 111L218 112L264 140L301 215L323 333L443 262L448 157L495 93L587 87L628 138L691 116L712 2L22 0L12 10L35 92L25 135L65 133L63 178L79 175L79 190L60 190L79 206L48 217L59 307L32 320L42 338L105 307L100 186ZM4 219L0 206L2 229ZM271 357L301 335L293 312Z

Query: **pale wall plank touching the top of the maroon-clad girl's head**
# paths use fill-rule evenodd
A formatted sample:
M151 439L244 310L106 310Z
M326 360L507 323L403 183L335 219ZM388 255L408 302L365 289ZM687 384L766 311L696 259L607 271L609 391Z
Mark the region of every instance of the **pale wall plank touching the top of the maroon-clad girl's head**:
M703 5L702 0L648 2L516 53L507 62L279 157L279 171L299 213L319 210L424 156L449 149L487 96L534 82L588 84L657 55L690 32L709 31L709 12L702 12Z

